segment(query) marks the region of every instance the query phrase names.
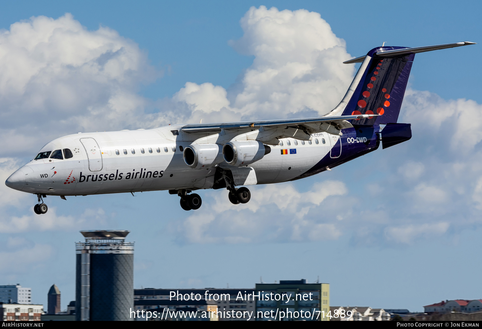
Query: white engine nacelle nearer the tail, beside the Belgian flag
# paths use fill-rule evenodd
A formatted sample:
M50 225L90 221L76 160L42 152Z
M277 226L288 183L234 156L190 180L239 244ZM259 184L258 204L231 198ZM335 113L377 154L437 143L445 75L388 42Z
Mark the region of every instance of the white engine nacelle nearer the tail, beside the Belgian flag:
M230 165L252 164L271 152L268 145L257 140L230 141L223 146L223 157Z

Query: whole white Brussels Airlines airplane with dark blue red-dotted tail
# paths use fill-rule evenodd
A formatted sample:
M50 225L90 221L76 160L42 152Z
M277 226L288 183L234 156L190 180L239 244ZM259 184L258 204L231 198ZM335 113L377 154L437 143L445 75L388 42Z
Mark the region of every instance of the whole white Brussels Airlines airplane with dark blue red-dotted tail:
M295 180L412 137L397 123L415 53L474 44L379 47L344 63L362 63L343 100L317 118L169 125L154 129L78 133L54 139L5 184L43 198L169 190L184 210L199 209L193 190L229 190L234 204L251 193L242 185Z

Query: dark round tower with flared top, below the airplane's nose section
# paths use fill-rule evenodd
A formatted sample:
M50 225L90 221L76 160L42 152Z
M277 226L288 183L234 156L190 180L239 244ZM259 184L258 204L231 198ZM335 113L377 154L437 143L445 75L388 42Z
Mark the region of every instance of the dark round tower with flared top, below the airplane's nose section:
M130 231L80 231L76 246L76 320L129 321L134 308L134 243Z

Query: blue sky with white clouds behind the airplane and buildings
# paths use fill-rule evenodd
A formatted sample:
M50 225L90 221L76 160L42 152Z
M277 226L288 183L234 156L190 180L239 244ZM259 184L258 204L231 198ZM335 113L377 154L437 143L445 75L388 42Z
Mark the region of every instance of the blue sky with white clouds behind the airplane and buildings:
M282 81L285 89L281 91L288 95L291 108L272 102L278 111L257 112L252 104L235 101L241 89L274 90L273 80L257 82L266 72L263 65L281 71L282 65L276 63L301 61L295 53L281 56L275 51L253 51L256 42L272 39L240 20L252 6L253 13L262 11L261 5L320 13L321 18L309 16L299 24L283 26L295 31L292 38L299 47L307 49L314 43L347 59L384 41L394 46L479 42L482 32L477 15L481 5L476 1L459 1L456 6L449 1L405 1L403 6L356 1L5 3L0 12L0 28L4 29L0 56L8 57L0 64L2 177L26 163L48 140L77 131L148 128L199 122L200 117L211 122L216 118L274 119L331 109L355 72L353 66L337 60L305 63L318 72L317 78L306 78L306 89L335 86L334 92L321 91L314 101L318 107L303 103L304 88L295 80ZM40 15L53 18L54 23L39 20ZM61 16L63 21L58 20ZM321 19L328 25L322 25ZM28 48L34 33L13 33L11 25L17 22L34 26L31 31L36 36L41 36L36 22L47 28L58 25L60 42L49 39L41 47ZM76 24L84 30L79 32ZM310 26L318 29L319 36L303 40L298 32ZM106 53L123 47L127 54L114 60L127 69L109 75L106 69L76 71L87 60L63 63L64 57L55 57L67 48L63 42L72 38L63 31L75 31L85 41L72 43L77 53L89 53L94 40ZM98 31L104 31L100 37ZM272 42L270 47L277 45ZM329 58L327 54L322 52L318 59ZM55 283L65 308L74 299L78 231L100 228L132 231L128 240L136 241L136 288L223 288L227 284L247 288L254 287L261 276L265 282L299 278L313 282L320 276L322 282L331 284L332 305L418 311L422 305L445 299L480 299L482 291L474 285L477 277L470 276L482 269L477 259L482 228L478 58L480 45L417 54L399 118L399 122L412 123L410 141L377 150L329 173L255 187L253 194L259 202L252 200L251 208L229 208L225 206L227 191L206 190L200 192L203 206L193 214L179 207L177 197L159 191L136 197L70 197L67 201L48 197L50 217L39 219L32 212L33 196L3 187L0 259L7 266L1 266L0 284L18 282L32 287L33 302L46 305L47 291ZM38 69L38 63L45 67ZM259 74L258 80L249 82L249 74ZM67 96L49 94L62 84L67 86ZM40 101L39 95L44 97ZM260 101L267 99L261 93L253 95ZM294 95L303 100L297 103ZM218 106L221 109L212 105L226 103ZM326 197L306 201L320 193ZM245 218L252 222L245 225ZM295 236L300 227L305 231ZM321 231L314 236L309 228Z

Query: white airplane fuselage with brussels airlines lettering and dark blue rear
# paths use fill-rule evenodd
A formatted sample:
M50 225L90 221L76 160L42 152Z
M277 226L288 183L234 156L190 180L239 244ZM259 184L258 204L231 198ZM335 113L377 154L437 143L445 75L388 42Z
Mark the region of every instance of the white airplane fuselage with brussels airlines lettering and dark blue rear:
M200 135L185 133L182 127L78 133L54 139L40 150L50 155L17 170L10 187L59 196L225 187L216 185L218 166L192 169L184 162L184 148ZM254 168L257 184L308 177L375 151L378 131L379 127L355 126L343 129L342 136L322 132L312 134L309 141L280 139L270 153L249 166ZM66 149L72 155L69 159L65 159ZM63 159L52 158L56 150L63 150Z

